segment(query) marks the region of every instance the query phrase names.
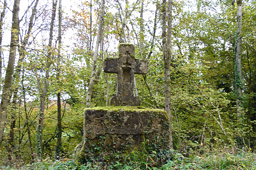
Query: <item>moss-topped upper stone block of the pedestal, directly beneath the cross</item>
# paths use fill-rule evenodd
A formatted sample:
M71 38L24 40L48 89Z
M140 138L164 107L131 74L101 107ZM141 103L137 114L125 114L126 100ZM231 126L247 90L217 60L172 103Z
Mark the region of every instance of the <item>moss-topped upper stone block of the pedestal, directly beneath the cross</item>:
M128 109L127 109L128 108ZM100 108L85 111L84 137L94 139L97 135L142 135L144 132L163 131L166 112L136 107L120 110Z

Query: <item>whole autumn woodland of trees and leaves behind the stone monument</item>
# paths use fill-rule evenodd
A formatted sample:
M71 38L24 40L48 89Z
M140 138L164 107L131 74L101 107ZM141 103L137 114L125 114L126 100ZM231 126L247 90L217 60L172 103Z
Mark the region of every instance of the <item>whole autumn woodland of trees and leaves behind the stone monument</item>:
M0 165L72 159L84 109L109 106L116 93L117 75L102 67L119 43L149 60L134 93L143 107L167 111L171 149L184 157L256 149L256 1L1 0L0 8Z

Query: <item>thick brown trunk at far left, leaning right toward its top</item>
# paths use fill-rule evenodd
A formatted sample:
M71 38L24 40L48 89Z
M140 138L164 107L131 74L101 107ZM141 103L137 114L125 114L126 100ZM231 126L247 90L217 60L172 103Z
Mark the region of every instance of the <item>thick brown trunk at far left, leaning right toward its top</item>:
M14 63L16 57L16 47L18 46L19 36L19 0L14 1L14 9L12 11L12 33L11 47L9 53L9 61L5 74L4 87L2 91L2 100L0 107L0 147L4 136L4 127L6 120L6 110L8 107L9 95L12 86L12 76L14 75Z

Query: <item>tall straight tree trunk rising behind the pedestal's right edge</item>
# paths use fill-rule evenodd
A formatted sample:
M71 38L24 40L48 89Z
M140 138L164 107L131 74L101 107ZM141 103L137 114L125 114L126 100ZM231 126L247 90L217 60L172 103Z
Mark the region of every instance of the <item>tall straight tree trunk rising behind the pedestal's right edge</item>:
M171 80L170 80L170 62L171 62L171 21L172 21L172 8L173 2L168 1L168 25L166 26L166 0L163 0L163 56L164 56L164 87L165 87L165 108L169 115L170 122L170 148L173 148L173 138L171 134ZM166 27L167 39L166 39Z

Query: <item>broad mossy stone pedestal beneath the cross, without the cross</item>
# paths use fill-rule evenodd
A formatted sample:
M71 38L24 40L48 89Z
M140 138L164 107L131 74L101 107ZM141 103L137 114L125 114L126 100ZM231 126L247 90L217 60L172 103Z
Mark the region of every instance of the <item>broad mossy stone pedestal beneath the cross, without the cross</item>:
M143 141L168 148L166 111L132 106L90 108L85 111L83 143L76 158L84 163L90 157L130 152L140 148Z

